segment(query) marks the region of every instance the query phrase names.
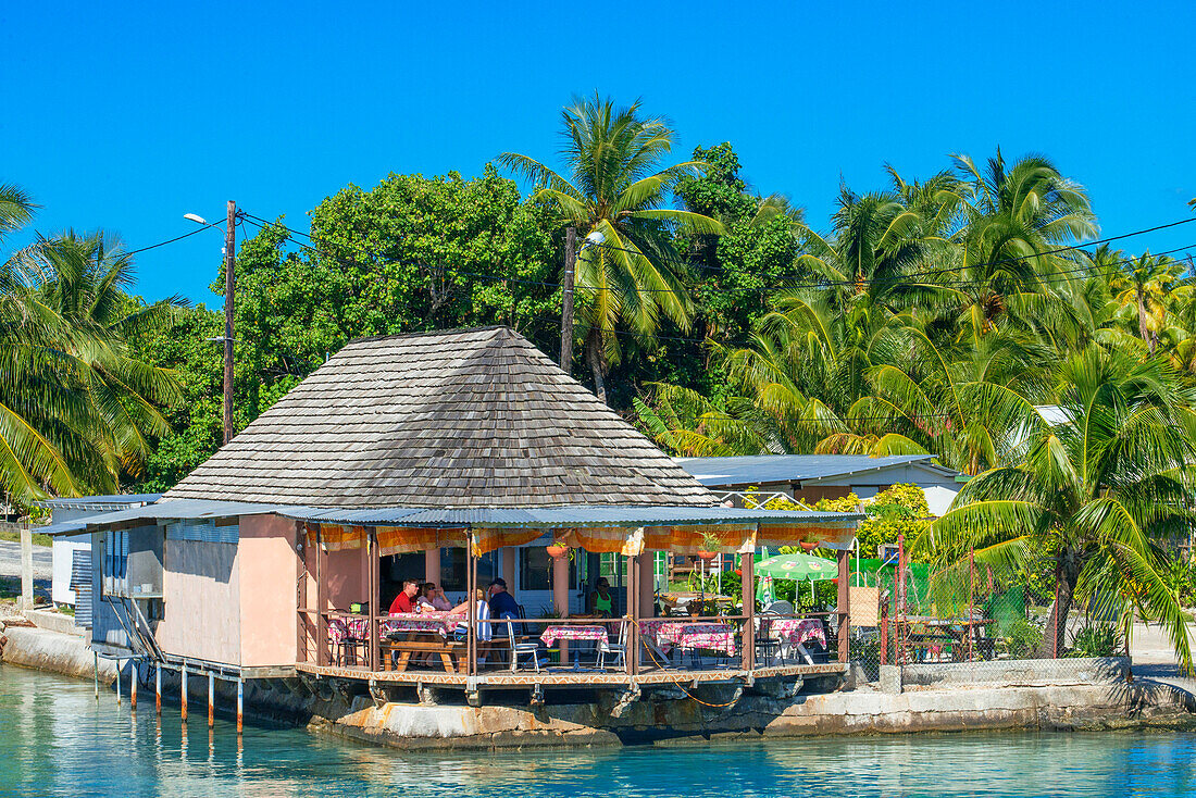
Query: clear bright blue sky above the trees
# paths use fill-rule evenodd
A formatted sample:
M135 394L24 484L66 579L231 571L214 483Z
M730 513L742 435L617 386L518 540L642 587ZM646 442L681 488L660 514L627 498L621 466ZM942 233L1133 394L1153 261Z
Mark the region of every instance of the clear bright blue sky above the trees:
M1191 217L1191 2L0 4L0 182L33 227L188 232L187 212L306 212L391 171L551 159L574 93L641 97L696 145L731 141L762 193L825 226L840 184L947 154L1042 152L1103 232ZM10 244L23 243L20 238ZM1196 224L1122 242L1192 244ZM138 290L219 304L216 232L138 256Z

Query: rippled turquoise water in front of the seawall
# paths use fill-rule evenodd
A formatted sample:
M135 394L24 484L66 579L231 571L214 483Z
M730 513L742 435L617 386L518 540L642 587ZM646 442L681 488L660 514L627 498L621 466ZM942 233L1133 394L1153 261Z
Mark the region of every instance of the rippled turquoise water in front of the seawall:
M2 796L1190 796L1196 735L941 735L551 754L403 754L0 666ZM200 713L203 707L199 707ZM199 720L199 723L196 723Z

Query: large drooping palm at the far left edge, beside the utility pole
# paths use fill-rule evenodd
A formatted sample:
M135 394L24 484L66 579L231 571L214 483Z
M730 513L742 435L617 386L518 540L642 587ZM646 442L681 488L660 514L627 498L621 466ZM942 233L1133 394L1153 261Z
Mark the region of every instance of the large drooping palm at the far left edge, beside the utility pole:
M0 189L4 232L32 213ZM102 233L38 239L0 267L0 483L22 501L112 491L163 434L155 403L173 377L129 357L124 336L163 323L177 300L139 306L132 263Z

